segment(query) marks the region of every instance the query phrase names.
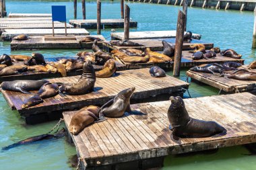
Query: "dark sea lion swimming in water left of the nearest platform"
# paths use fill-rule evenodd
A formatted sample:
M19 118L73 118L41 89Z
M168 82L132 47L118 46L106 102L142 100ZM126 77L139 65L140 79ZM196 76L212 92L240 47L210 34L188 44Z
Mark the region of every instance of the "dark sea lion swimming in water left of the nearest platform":
M41 141L41 140L57 139L57 138L61 138L63 136L65 136L65 128L62 128L61 130L59 130L55 134L40 134L38 136L33 136L33 137L30 137L30 138L26 138L24 140L21 140L20 142L16 142L16 143L11 144L9 146L3 147L2 151L7 151L11 148L15 148L15 147L20 146L22 144L31 144L32 142L37 142L37 141Z

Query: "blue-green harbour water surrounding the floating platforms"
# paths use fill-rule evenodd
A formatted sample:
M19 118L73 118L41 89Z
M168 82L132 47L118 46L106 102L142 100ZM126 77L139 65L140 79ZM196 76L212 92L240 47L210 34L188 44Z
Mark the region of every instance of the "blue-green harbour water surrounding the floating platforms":
M7 1L7 12L12 13L51 13L51 5L66 5L67 20L73 19L71 1ZM132 31L175 30L177 13L181 7L146 3L129 3L131 18L138 22L138 28ZM86 2L87 19L96 19L96 2ZM188 30L202 35L202 40L213 42L221 48L234 48L243 54L245 63L255 60L255 50L251 49L253 34L253 12L216 11L212 9L188 9ZM81 3L77 4L77 17L82 18ZM102 18L119 18L118 2L102 1ZM96 34L96 30L89 30ZM122 30L117 30L121 32ZM110 30L102 30L105 38ZM30 50L11 52L9 42L0 42L0 53L31 54ZM77 50L39 50L46 57L71 56ZM186 79L186 70L180 79ZM169 73L170 75L172 72ZM189 91L192 97L218 94L218 89L207 85L191 83ZM185 97L188 97L187 93ZM0 148L18 140L48 132L55 122L35 126L24 124L18 112L11 111L0 95ZM0 152L0 169L72 169L69 157L75 155L75 147L65 138L38 142ZM255 157L248 156L243 146L221 148L217 153L170 156L164 161L163 169L256 169Z

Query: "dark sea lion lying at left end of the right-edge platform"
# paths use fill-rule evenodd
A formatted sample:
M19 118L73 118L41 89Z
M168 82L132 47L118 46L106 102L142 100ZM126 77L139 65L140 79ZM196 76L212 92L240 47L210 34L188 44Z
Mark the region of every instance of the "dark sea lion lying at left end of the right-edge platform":
M189 70L214 74L214 73L223 73L224 67L222 67L222 65L214 63L214 64L203 65L202 67L201 66L192 67Z

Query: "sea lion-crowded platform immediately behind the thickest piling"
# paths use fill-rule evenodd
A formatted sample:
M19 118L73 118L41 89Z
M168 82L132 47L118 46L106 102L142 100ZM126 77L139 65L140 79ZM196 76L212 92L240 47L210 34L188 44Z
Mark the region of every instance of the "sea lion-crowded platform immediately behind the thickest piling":
M244 64L243 59L235 59L235 58L230 58L227 56L222 56L220 54L217 54L216 57L214 58L209 58L209 59L201 59L201 60L192 60L191 56L192 53L189 51L183 51L182 52L183 56L181 58L181 67L194 67L198 65L203 65L203 64L211 64L211 63L224 63L228 61L232 62L239 62L242 65ZM164 62L164 63L151 63L151 62L146 62L146 63L129 63L125 62L122 59L117 58L114 56L114 59L117 60L117 62L120 62L121 64L125 65L127 69L141 69L141 68L150 68L153 66L159 66L162 69L171 69L173 68L174 62Z

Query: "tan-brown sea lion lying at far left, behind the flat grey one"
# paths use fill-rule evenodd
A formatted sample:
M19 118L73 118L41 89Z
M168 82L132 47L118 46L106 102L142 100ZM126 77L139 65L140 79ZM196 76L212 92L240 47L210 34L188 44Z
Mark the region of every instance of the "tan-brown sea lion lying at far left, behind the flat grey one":
M26 65L11 65L9 67L5 67L0 71L0 76L7 75L18 75L22 74L22 72L27 71L28 68Z

